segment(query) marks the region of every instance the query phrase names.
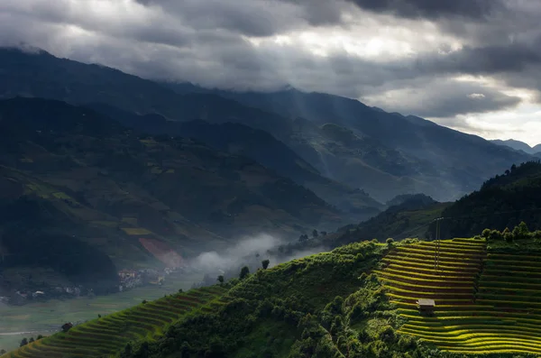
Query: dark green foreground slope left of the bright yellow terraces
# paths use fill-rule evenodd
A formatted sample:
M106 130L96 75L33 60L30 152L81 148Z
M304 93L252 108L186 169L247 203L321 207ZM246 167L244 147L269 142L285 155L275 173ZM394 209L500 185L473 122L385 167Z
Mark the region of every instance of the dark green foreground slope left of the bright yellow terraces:
M82 350L93 347L94 355L89 356L112 352L119 344L124 344L124 351L120 353L124 357L168 356L182 352L194 357L197 354L216 357L224 354L234 357L309 356L302 352L311 349L307 348L312 341L311 336L329 332L332 326L336 335L339 334L338 327L333 325L335 317L328 316L336 313L336 305L329 305L336 296L348 298L367 285L367 289L371 288L371 296L381 305L385 304L381 287L378 289L379 283L374 276L366 279L366 273L386 250L386 245L382 244L353 243L333 252L261 269L243 280L234 279L214 286L210 288L214 292L214 300L188 316L171 316L170 305L182 295L160 298L76 326L67 334L44 338L40 344L28 344L10 353L13 355L6 356L37 357L39 351L45 349L42 345L48 342L51 352L78 346L77 352L84 354ZM359 280L360 277L362 280ZM224 293L231 286L225 296L215 296L216 290L221 289ZM191 292L188 295L194 296L199 291ZM357 296L347 301L355 312L360 309L353 308ZM374 304L374 309L380 307L380 303ZM139 329L135 325L129 326L129 329L123 328L125 322L137 317L144 318L143 321L136 321ZM362 322L363 319L358 318L355 322ZM177 323L167 328L172 322ZM96 340L105 339L103 333L97 332L98 328L114 334L115 339L96 345ZM130 341L132 343L128 344ZM79 342L84 344L78 345ZM334 346L335 342L331 340L328 344ZM326 356L322 354L320 356Z

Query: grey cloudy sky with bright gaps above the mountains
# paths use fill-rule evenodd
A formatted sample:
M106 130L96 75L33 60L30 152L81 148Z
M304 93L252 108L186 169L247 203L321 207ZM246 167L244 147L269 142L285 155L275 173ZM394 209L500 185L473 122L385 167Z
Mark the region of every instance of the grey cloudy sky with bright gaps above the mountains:
M144 78L286 85L541 142L538 0L3 0L20 42Z

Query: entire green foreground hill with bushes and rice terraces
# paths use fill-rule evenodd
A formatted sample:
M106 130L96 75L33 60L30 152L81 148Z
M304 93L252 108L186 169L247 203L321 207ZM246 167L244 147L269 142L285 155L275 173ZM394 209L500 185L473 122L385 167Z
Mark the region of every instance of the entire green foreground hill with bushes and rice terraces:
M351 243L101 317L2 358L536 357L541 237L522 240L537 249L521 253L493 237ZM421 312L419 298L434 299L433 312Z

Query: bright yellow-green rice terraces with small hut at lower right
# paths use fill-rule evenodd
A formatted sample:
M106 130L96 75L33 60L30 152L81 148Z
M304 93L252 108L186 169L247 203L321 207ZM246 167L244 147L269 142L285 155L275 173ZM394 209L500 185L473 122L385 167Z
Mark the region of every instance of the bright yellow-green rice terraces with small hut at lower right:
M541 255L487 253L479 240L399 246L377 271L407 318L399 333L454 353L541 354ZM418 298L433 298L432 315Z

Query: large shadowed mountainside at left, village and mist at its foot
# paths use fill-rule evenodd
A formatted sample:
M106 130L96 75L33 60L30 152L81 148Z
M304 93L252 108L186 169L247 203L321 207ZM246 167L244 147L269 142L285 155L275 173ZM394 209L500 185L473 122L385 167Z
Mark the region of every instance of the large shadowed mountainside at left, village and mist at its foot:
M0 101L0 117L0 296L53 279L115 289L116 271L170 265L167 252L189 259L243 235L344 224L314 192L201 142L136 135L85 107L37 98ZM6 269L17 267L58 277L14 282Z

